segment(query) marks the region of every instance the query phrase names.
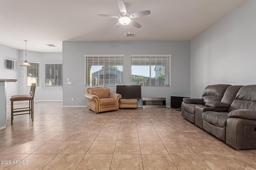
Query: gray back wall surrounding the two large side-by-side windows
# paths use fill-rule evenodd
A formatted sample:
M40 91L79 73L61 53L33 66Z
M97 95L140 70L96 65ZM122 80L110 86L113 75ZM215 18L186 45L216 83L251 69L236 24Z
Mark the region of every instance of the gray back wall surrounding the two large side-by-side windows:
M161 54L171 57L171 87L142 87L142 97L190 96L189 41L103 41L63 43L63 106L86 106L84 97L84 55L124 54L124 85L131 84L132 54ZM67 85L70 78L72 85ZM116 87L109 87L116 92ZM74 98L74 101L71 101ZM140 101L139 105L142 103Z

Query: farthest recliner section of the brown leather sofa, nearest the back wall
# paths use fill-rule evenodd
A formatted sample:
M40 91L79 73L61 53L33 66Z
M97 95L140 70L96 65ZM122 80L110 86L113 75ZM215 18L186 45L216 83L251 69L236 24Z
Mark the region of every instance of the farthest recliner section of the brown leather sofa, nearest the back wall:
M220 102L226 89L231 86L229 84L214 84L209 85L204 89L201 99L196 98L184 98L181 104L181 115L188 121L195 123L196 106L201 106L202 111L209 110L210 107L205 106L208 102ZM212 107L211 111L225 111L227 109L218 109L218 107ZM203 112L202 112L203 113ZM199 117L200 123L202 122L202 113ZM202 123L201 123L202 124ZM202 128L202 125L201 125Z

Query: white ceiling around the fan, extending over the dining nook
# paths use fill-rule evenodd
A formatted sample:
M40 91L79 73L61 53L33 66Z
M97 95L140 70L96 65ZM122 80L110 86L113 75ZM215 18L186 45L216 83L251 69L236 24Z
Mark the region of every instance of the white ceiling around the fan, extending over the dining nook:
M117 0L0 0L0 44L37 52L62 52L62 41L190 41L246 0L124 0L134 18L135 37L113 29ZM48 47L53 44L56 47Z

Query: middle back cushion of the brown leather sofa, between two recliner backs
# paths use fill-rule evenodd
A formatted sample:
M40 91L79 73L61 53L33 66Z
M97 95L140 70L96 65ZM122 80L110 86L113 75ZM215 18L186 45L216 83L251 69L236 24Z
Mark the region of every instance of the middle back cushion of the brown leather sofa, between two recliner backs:
M236 94L237 94L238 90L240 90L241 87L242 86L229 86L226 89L220 102L229 104L229 105L232 104L232 102L236 98Z

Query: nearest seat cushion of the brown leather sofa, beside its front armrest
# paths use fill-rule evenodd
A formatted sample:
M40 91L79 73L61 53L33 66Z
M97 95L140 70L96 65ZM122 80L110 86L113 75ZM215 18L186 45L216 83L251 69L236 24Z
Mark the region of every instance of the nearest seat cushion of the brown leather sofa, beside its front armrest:
M212 125L215 125L217 127L226 128L228 113L227 112L216 112L216 111L205 111L202 114L202 118L204 121L207 121L208 123L210 123Z

